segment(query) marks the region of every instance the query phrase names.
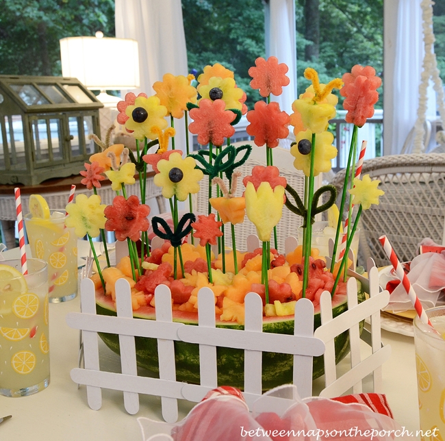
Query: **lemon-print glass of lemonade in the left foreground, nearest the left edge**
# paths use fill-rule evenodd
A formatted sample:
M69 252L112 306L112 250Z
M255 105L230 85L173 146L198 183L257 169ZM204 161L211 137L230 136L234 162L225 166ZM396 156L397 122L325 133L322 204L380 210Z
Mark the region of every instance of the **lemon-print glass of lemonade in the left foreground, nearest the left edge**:
M49 384L48 273L43 260L0 264L0 394L27 396Z

